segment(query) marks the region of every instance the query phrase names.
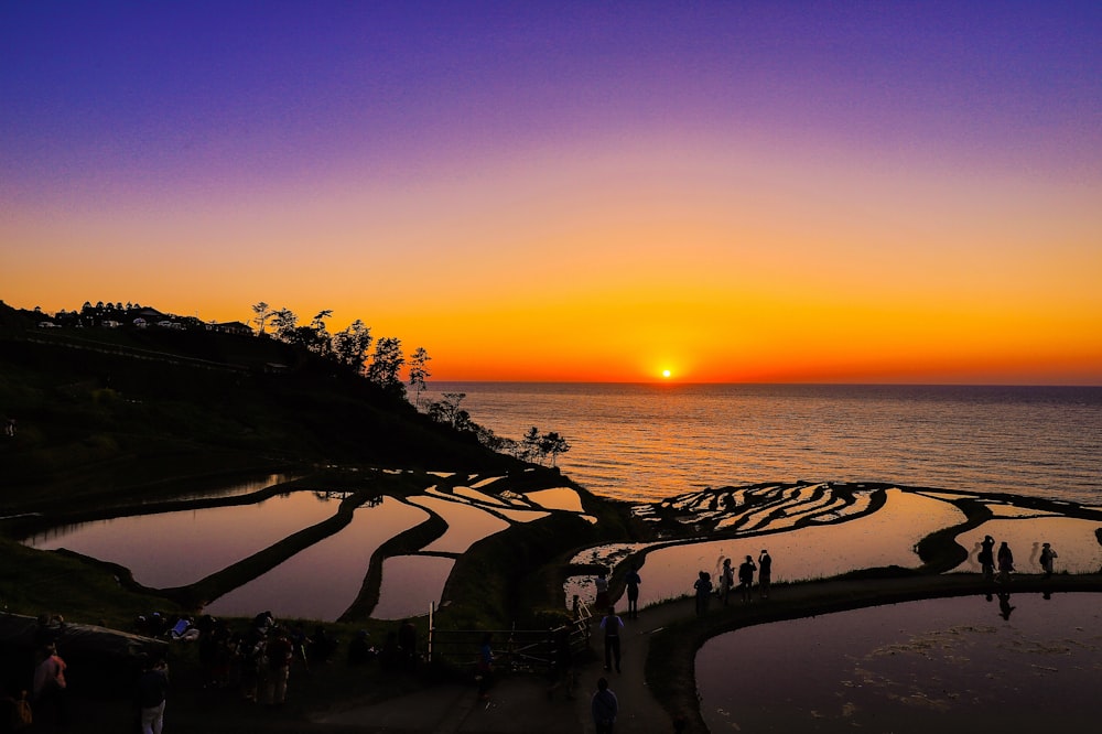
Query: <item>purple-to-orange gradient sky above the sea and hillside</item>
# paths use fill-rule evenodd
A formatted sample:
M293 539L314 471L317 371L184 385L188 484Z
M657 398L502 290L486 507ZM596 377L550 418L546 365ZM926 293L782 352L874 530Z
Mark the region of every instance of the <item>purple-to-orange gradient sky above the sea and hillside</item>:
M0 0L0 299L433 379L1102 384L1102 3Z

